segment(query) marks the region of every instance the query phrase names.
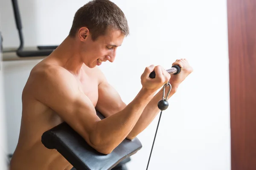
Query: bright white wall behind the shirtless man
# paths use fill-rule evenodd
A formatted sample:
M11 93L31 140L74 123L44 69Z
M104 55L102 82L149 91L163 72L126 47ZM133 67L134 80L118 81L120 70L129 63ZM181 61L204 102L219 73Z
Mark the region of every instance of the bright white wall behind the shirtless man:
M86 2L20 0L25 45L61 43L74 13ZM101 68L126 103L140 90L140 75L146 66L162 65L168 69L176 59L187 58L194 68L163 112L148 169L230 170L226 1L113 2L124 11L131 34L119 48L116 61ZM19 45L11 9L9 0L1 1L4 47ZM3 63L7 130L13 133L8 135L9 151L17 142L20 94L37 62ZM130 170L146 169L158 117L138 136L143 148L132 156Z

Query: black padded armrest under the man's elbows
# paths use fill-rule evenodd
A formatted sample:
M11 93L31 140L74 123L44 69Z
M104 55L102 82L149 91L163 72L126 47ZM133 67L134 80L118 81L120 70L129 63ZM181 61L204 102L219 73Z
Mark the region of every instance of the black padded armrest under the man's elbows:
M41 141L48 149L58 150L76 170L111 170L142 148L139 139L124 139L110 154L99 153L66 122L44 132Z

